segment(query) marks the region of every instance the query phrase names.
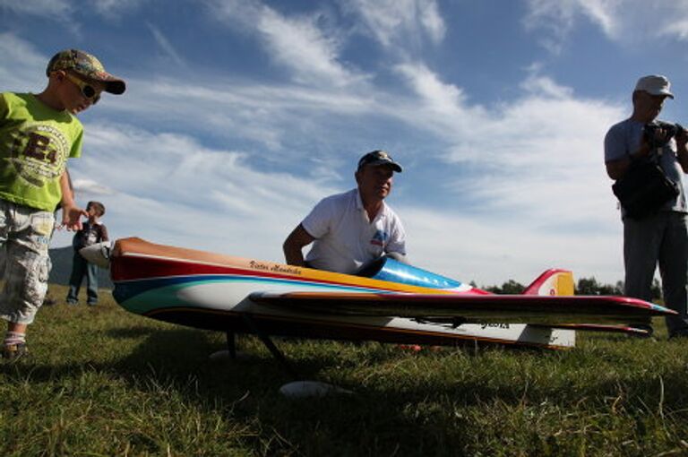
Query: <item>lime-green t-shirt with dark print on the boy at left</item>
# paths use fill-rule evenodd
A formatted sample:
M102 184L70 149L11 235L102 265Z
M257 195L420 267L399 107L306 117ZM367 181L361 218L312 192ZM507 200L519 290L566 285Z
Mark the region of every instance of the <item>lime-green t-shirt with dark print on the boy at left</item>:
M62 199L67 159L82 154L83 126L30 93L0 93L0 198L44 211Z

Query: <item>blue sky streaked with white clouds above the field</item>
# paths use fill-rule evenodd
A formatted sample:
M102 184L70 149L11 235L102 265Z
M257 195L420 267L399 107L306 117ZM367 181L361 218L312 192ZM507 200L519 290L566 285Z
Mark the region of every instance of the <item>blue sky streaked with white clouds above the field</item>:
M68 165L112 238L283 262L383 149L411 263L615 283L604 136L645 74L672 82L660 118L688 124L686 45L688 0L0 0L0 91L42 91L64 48L125 79L79 115Z

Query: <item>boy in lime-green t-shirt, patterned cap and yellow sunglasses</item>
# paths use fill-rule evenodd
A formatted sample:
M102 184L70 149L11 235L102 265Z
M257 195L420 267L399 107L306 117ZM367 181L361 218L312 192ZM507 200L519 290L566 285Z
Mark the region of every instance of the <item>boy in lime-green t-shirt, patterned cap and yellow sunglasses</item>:
M69 192L66 162L82 152L83 127L75 114L102 91L121 94L125 82L99 60L76 49L50 59L47 86L39 94L0 93L0 249L5 256L0 318L7 333L3 358L27 353L26 330L47 289L48 245L62 204L62 225L82 228L86 212Z

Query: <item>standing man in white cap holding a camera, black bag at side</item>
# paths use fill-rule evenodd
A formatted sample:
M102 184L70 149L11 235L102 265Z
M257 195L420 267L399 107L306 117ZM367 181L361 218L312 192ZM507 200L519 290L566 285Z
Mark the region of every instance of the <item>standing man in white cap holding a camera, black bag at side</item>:
M664 76L638 80L632 116L606 134L605 163L615 187L638 190L628 197L615 188L624 221L624 294L649 301L658 266L666 306L678 312L667 317L669 338L673 338L688 336L688 206L683 185L683 175L688 173L688 134L681 125L656 120L665 100L674 99L670 89ZM638 173L641 168L659 170L665 185L639 190L644 185L643 172ZM666 196L657 198L658 189ZM652 331L649 322L641 327Z

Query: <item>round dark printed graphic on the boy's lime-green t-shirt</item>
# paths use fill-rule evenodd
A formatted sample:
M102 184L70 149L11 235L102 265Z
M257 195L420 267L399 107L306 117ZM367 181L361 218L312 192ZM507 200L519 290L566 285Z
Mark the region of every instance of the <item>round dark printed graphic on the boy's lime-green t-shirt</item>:
M30 185L42 187L62 176L69 145L56 127L27 123L14 138L10 162L17 175Z

